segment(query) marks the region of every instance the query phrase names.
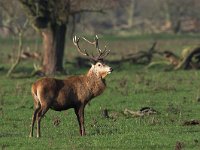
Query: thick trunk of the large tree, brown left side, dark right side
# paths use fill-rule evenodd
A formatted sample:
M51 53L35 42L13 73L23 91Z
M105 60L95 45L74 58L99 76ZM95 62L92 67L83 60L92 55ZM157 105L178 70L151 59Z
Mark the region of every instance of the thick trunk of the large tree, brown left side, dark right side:
M65 24L53 24L42 31L44 57L42 71L46 75L63 71L63 54L65 47Z

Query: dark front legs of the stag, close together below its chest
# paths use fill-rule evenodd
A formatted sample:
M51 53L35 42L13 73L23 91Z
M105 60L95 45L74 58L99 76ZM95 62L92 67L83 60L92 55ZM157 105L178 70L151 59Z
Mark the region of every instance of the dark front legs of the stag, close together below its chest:
M78 108L75 108L75 113L77 116L77 120L79 123L79 129L80 129L80 135L85 135L85 127L84 127L84 106L80 106Z

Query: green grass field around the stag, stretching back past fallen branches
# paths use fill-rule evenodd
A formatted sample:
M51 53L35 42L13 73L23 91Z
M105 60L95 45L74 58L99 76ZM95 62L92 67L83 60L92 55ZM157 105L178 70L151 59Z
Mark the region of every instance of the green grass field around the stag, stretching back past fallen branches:
M140 40L107 39L110 49L118 55L135 49L147 49L155 40L148 37ZM173 37L172 40L161 38L158 49L172 49L179 53L184 46L198 42L198 36ZM9 42L4 42L1 48L6 51L2 50L0 56L1 67L4 68L0 71L2 149L166 150L175 149L176 145L183 149L200 149L200 126L184 125L185 121L200 120L200 71L165 71L164 66L146 69L144 65L131 63L113 66L114 72L107 78L106 91L86 107L85 137L79 136L76 116L71 109L63 112L49 110L41 123L42 137L29 138L33 113L30 88L37 78L6 77L9 67L7 54L12 47ZM69 53L65 57L71 58L76 54L69 45ZM16 74L30 73L32 63L22 62ZM69 74L81 74L88 70L66 66ZM159 113L143 117L123 114L126 108L137 111L142 107L152 107ZM103 117L104 109L108 109L110 118Z

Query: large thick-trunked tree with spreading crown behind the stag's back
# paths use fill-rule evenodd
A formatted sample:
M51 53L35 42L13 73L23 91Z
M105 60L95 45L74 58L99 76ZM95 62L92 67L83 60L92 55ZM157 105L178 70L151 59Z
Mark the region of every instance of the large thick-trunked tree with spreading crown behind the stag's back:
M93 0L19 0L34 20L33 25L43 38L43 72L53 74L63 70L65 35L69 17L78 13L102 11L109 1ZM74 22L75 23L75 22Z

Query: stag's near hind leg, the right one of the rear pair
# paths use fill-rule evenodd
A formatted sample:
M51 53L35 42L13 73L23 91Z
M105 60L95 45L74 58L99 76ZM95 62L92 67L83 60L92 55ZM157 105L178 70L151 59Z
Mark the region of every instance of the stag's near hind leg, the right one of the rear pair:
M40 132L40 122L42 117L45 115L45 113L49 110L48 104L41 103L41 108L37 113L37 137L39 138L41 136Z

